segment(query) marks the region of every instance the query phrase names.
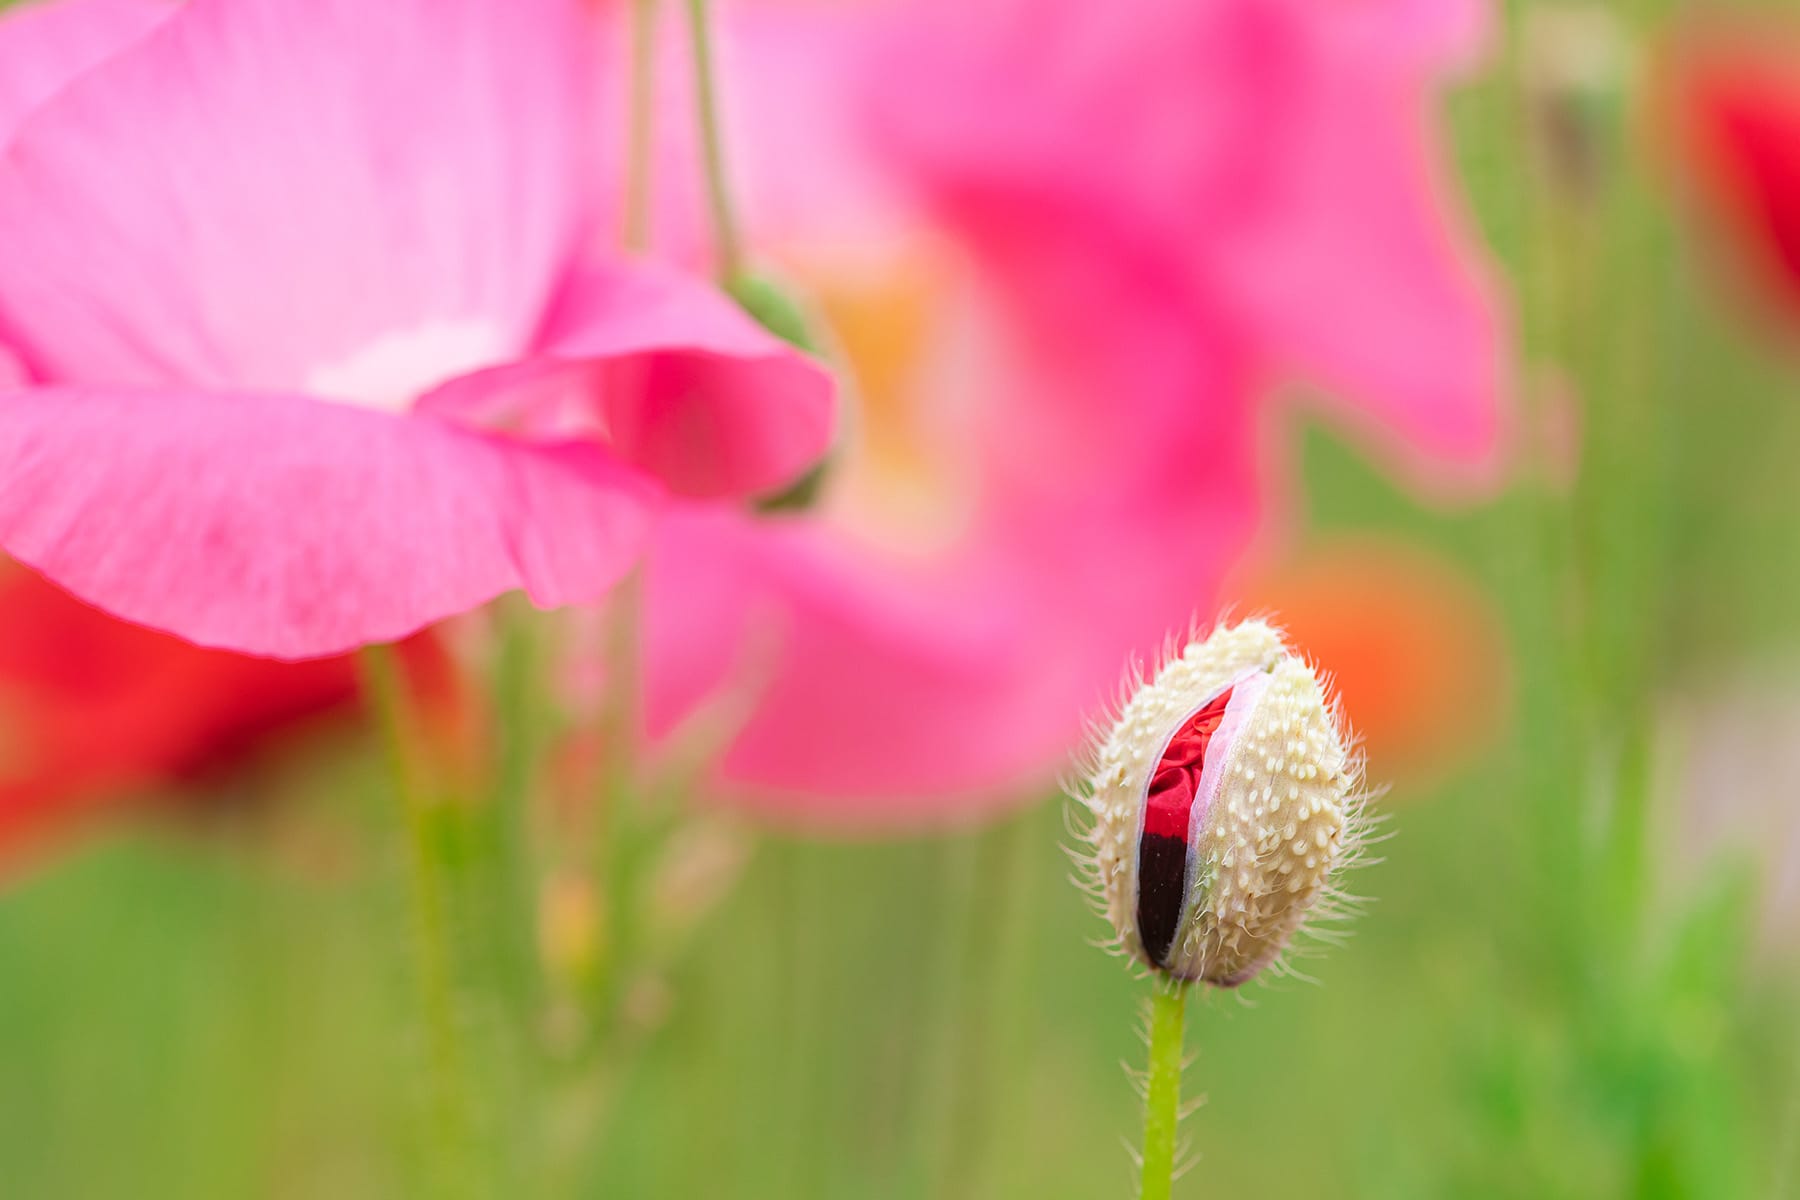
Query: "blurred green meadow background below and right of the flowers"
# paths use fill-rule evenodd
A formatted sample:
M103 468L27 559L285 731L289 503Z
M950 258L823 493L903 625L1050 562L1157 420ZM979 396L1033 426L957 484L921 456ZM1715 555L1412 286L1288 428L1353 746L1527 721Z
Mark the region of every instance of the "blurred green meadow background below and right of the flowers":
M1546 76L1571 13L1616 34L1611 68ZM1373 901L1301 964L1316 986L1195 1002L1177 1195L1800 1196L1800 945L1768 912L1795 779L1690 779L1708 696L1800 694L1800 362L1733 306L1658 153L1645 68L1672 13L1514 4L1447 113L1525 421L1552 380L1579 398L1571 489L1440 511L1303 437L1301 540L1456 560L1505 613L1510 712L1381 802L1391 840L1352 880ZM108 829L5 885L0 1195L416 1189L378 761L346 747L284 786L311 799ZM1699 847L1712 804L1744 815ZM603 1078L461 1013L479 1105L455 1189L1130 1193L1148 986L1089 945L1062 801L927 840L734 837L743 878L628 1000Z

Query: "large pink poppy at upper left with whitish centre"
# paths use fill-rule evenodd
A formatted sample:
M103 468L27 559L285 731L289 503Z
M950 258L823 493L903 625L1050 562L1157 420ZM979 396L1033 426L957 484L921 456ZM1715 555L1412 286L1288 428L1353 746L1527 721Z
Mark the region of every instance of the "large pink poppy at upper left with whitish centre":
M0 18L18 560L301 658L511 588L592 599L668 495L779 488L828 444L817 365L592 252L578 0L153 7Z

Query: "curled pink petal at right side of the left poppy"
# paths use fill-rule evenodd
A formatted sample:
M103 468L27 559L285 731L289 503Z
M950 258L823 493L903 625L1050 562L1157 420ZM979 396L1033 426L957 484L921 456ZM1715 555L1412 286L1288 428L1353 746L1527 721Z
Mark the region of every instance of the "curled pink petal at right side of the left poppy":
M601 435L677 495L772 491L832 443L830 372L718 290L650 263L576 273L538 354L452 380L421 412Z

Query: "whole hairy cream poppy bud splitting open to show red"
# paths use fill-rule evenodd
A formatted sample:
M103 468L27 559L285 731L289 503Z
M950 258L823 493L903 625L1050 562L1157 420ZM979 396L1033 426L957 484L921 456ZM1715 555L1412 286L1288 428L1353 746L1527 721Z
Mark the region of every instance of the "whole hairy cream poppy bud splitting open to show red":
M1071 853L1120 952L1237 988L1352 910L1337 876L1368 840L1361 783L1319 675L1269 622L1220 624L1134 669L1094 723Z

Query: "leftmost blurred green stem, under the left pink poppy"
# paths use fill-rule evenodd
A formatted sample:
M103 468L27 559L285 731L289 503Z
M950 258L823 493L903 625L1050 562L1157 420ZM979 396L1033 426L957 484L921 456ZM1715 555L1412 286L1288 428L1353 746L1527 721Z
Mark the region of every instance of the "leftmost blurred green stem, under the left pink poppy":
M387 750L394 793L407 822L409 909L419 1011L430 1070L434 1168L443 1178L470 1144L470 1092L455 1013L455 966L450 943L448 829L419 763L418 716L392 646L367 646L358 655L364 693Z

